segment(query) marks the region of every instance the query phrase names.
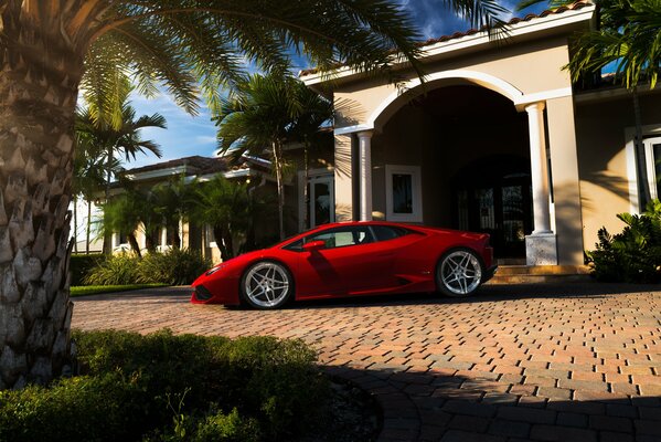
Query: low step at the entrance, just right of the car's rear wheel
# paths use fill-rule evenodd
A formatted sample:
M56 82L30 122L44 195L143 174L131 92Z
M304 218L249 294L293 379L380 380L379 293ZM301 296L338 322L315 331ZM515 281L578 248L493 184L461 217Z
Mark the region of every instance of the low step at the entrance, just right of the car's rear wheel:
M587 265L502 265L488 284L586 282L590 272Z

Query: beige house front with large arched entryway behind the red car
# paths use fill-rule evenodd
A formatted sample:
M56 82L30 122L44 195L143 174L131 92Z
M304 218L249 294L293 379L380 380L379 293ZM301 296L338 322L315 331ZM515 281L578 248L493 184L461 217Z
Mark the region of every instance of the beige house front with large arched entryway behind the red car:
M488 232L501 263L579 265L597 230L636 212L631 94L580 90L563 67L569 40L595 24L576 3L424 43L424 82L348 69L302 72L332 95L334 219L383 219ZM640 90L653 192L661 173L661 94ZM661 177L660 177L661 178Z

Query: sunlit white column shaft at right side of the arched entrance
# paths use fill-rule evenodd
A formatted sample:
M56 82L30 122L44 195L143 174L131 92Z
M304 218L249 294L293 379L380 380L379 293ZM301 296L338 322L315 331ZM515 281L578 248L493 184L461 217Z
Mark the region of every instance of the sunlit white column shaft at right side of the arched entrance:
M530 166L533 185L534 234L552 233L548 211L548 162L544 134L544 102L525 106L530 130Z

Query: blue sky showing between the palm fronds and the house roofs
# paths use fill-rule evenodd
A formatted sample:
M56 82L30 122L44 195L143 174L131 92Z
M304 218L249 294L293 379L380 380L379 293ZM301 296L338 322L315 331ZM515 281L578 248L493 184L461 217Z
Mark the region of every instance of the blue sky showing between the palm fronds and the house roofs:
M438 38L456 31L470 29L461 19L455 17L444 7L443 0L397 0L413 17L424 39ZM505 0L501 4L512 10L516 1ZM544 7L531 9L531 12L543 10ZM525 11L527 12L527 11ZM524 12L524 13L525 13ZM508 18L509 19L509 18ZM305 60L299 61L299 69L310 67ZM153 162L192 155L213 156L215 151L216 128L211 122L209 109L203 106L195 117L179 108L166 94L147 99L135 95L132 105L137 115L159 113L168 120L168 129L145 129L142 137L158 143L163 151L161 159L153 155L139 156L135 161L126 164L126 168L140 167Z

